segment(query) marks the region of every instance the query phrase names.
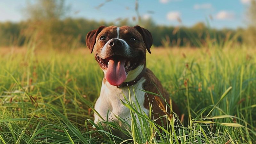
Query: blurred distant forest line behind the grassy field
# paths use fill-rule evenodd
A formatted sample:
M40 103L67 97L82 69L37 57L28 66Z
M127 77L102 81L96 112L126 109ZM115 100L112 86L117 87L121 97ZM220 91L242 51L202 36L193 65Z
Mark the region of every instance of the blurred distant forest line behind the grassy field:
M26 41L34 38L40 43L52 43L61 48L74 44L76 46L85 45L86 34L97 29L99 26L111 26L114 23L104 21L94 21L86 19L72 19L44 21L23 21L18 23L4 22L0 23L0 46L22 46ZM124 20L117 26L132 25ZM153 36L154 46L207 46L208 42L224 44L225 41L235 41L243 43L244 29L213 29L207 27L204 23L197 23L193 27L173 27L159 26L152 20L142 21L141 26L147 28ZM63 45L63 46L64 46Z

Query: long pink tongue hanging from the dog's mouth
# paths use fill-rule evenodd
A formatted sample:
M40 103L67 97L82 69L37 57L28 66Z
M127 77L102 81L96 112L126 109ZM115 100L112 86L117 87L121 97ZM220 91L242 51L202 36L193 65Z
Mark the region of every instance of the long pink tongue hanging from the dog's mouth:
M125 61L125 59L109 60L107 73L105 74L109 84L117 86L124 82L127 77L124 68Z

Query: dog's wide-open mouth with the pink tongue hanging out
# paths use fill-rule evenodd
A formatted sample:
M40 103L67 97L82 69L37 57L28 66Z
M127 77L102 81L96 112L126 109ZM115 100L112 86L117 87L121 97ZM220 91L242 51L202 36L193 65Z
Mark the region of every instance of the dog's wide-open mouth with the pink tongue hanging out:
M120 85L124 82L130 70L137 67L139 57L126 58L119 55L112 55L106 59L102 59L97 55L99 64L107 69L105 74L106 80L111 85Z

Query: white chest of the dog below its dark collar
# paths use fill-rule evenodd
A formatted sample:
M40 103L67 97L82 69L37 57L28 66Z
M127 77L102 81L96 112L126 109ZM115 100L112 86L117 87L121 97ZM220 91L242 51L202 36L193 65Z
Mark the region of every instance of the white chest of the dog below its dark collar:
M143 90L142 85L144 82L145 78L142 77L138 83L133 85L133 87L129 86L129 89L127 86L117 88L116 86L110 85L107 81L105 84L102 82L100 97L96 101L95 110L104 120L107 120L108 114L108 121L119 122L119 120L116 118L116 116L119 116L121 119L124 119L126 122L130 123L130 110L121 103L121 100L126 103L125 98L129 100L130 90L131 99L135 103L136 107L138 108L135 96L141 107L141 110L143 110L148 115L148 109L144 108L143 106L145 100L145 92L141 91ZM94 117L95 123L102 121L102 119L96 113L94 114Z

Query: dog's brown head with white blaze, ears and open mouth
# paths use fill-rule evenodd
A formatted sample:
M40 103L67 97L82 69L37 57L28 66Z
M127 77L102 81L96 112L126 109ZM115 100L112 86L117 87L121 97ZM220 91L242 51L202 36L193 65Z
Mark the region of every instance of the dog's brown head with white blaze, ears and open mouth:
M152 43L151 33L140 26L101 26L86 36L87 47L111 85L130 82L141 73Z

